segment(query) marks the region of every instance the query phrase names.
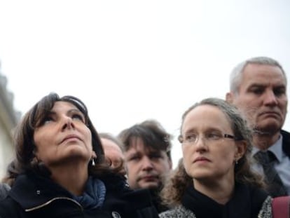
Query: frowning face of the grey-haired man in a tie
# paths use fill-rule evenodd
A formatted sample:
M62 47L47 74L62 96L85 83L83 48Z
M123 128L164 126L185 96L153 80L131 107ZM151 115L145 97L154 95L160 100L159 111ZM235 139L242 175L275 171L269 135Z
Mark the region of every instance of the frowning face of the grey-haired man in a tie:
M239 93L230 100L251 125L263 132L278 132L287 109L286 81L279 67L248 64L244 68Z

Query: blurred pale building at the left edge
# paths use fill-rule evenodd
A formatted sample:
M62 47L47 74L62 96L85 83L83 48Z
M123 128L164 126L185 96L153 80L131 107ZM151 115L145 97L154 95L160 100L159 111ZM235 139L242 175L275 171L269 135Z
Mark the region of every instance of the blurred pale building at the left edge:
M7 90L7 78L1 74L0 62L0 179L13 158L12 132L20 119L20 112L13 107L13 93Z

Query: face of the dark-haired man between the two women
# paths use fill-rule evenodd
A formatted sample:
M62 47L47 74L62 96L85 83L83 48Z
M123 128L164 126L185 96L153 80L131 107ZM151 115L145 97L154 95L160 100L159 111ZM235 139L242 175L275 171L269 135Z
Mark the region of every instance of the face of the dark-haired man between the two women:
M146 147L139 137L131 140L125 151L127 179L132 189L156 189L164 182L172 163L165 151Z

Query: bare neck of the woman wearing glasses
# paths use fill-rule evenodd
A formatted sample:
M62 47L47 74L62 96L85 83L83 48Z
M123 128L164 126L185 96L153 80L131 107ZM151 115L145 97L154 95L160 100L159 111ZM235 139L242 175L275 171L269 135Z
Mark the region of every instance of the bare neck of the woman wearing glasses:
M203 193L205 196L212 198L217 203L225 205L228 203L228 200L233 196L233 191L235 189L235 182L230 181L232 179L224 179L219 182L201 182L194 179L195 190Z

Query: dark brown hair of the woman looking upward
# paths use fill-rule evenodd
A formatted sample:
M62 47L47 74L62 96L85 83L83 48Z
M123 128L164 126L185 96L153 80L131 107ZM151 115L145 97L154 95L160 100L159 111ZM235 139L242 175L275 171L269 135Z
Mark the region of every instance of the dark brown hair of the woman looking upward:
M104 151L101 141L97 134L97 130L94 125L92 125L92 121L90 121L88 109L85 104L74 96L66 95L60 97L56 93L50 93L37 102L34 107L25 114L16 127L14 132L15 160L11 163L10 168L8 168L8 175L6 178L11 179L11 177L17 177L17 175L27 172L27 170L36 170L36 172L41 174L50 174L45 165L35 161L34 151L36 147L34 143L34 131L48 116L55 102L69 102L74 104L85 117L85 125L88 126L92 134L92 150L97 154L95 166L92 166L91 163L88 165L89 174L97 176L114 172L114 170L108 168L108 164L104 161ZM11 174L12 172L12 166L13 175L9 175L9 173Z

